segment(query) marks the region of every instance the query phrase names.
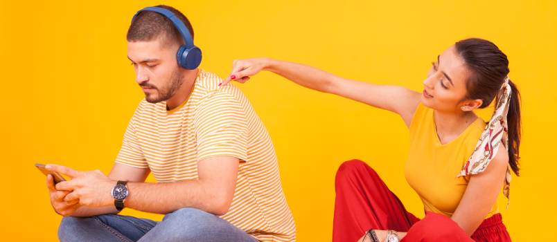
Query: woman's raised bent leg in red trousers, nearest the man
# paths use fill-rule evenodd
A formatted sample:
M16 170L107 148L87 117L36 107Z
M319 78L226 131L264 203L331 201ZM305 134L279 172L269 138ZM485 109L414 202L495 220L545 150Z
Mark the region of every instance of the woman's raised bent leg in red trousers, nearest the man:
M419 221L361 160L339 167L335 189L333 242L357 241L370 229L406 232Z

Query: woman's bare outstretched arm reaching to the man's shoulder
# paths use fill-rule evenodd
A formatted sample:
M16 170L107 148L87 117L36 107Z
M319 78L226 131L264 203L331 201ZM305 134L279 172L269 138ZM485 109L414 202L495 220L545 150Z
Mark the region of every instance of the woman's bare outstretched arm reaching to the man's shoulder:
M309 89L333 93L380 109L398 113L409 126L421 94L403 86L378 85L338 77L312 66L269 58L240 59L233 62L231 80L244 83L260 71L271 71Z

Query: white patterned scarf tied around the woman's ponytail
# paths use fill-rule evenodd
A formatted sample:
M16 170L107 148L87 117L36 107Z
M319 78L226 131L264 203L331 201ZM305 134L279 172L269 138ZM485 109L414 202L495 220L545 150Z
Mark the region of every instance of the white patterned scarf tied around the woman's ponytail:
M472 156L462 167L458 174L459 176L468 176L479 174L484 171L489 165L489 162L495 157L499 145L503 144L504 148L509 150L509 137L507 135L507 122L506 114L509 112L509 101L511 100L511 85L509 85L509 77L505 78L504 84L501 86L501 91L497 97L497 106L495 111L486 125L484 132L477 142L476 148ZM509 198L509 189L511 185L511 169L506 168L505 184L503 187L503 194L507 198L507 208L511 203Z

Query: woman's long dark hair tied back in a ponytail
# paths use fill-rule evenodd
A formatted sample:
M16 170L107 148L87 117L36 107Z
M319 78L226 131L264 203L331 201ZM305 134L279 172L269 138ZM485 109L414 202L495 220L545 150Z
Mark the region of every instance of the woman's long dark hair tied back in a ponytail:
M506 55L491 41L485 39L463 39L454 44L457 52L466 62L470 76L466 82L468 91L466 98L483 101L480 109L489 106L495 99L507 75L509 75L509 60ZM511 102L507 122L509 126L509 165L518 176L520 159L520 93L516 85L509 80L511 86ZM497 104L495 104L497 106Z

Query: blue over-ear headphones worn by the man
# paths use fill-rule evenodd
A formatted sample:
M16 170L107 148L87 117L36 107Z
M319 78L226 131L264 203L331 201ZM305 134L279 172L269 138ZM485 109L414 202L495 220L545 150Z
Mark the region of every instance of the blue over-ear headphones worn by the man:
M182 66L182 68L186 68L188 70L193 70L197 68L197 66L201 63L201 49L197 48L197 46L193 45L193 39L191 38L190 31L184 25L182 20L178 19L173 12L166 8L159 8L159 7L148 7L139 10L134 15L132 22L134 21L135 17L139 15L139 12L143 11L151 11L151 12L158 12L159 14L163 15L164 17L170 19L170 21L174 24L177 28L182 38L186 41L186 44L180 46L178 48L178 53L176 53L176 59L178 61L178 66Z

